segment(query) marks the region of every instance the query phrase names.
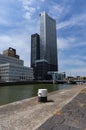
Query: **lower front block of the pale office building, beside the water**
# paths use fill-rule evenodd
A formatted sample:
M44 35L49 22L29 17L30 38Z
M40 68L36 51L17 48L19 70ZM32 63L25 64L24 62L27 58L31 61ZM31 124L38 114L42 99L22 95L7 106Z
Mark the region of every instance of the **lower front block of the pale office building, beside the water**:
M33 80L33 69L17 64L0 64L0 82Z

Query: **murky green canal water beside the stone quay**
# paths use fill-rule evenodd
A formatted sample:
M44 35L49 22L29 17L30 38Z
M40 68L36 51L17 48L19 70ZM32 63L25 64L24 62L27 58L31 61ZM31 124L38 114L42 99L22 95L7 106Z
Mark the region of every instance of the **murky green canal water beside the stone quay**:
M48 92L71 87L71 85L58 84L33 84L0 87L0 105L37 96L38 89L45 88Z

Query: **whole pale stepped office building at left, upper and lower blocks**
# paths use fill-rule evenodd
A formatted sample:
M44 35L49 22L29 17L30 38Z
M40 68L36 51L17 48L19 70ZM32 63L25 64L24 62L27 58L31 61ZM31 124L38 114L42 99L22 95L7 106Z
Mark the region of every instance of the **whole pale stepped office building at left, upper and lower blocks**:
M0 82L33 80L33 69L24 66L24 61L0 54Z

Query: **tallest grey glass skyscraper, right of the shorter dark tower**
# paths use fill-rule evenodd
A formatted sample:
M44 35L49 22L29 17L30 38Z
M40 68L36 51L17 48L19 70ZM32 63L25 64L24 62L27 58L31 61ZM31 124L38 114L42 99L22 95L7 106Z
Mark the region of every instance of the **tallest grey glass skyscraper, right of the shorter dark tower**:
M40 59L48 62L48 71L58 71L56 21L47 13L40 14Z

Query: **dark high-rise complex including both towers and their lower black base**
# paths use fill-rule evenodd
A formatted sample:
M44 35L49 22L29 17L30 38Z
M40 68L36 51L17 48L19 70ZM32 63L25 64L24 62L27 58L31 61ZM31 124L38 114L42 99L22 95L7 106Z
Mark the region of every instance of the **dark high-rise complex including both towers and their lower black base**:
M58 71L56 21L45 12L40 14L40 36L31 36L31 67L41 80L50 79L48 71Z

